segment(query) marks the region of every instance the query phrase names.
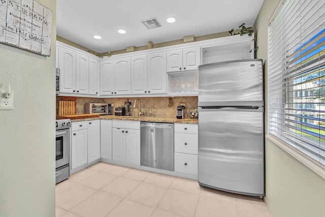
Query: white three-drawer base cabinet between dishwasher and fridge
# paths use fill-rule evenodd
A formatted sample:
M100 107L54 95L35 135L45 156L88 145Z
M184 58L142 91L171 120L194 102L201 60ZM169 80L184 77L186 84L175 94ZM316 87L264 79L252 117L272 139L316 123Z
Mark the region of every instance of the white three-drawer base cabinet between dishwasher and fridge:
M198 175L198 125L174 124L174 171Z

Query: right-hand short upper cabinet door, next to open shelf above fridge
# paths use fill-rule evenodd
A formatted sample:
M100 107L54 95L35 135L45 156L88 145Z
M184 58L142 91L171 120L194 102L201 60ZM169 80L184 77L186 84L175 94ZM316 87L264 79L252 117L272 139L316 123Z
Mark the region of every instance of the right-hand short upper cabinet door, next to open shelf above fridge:
M183 71L198 70L200 65L200 47L183 49Z

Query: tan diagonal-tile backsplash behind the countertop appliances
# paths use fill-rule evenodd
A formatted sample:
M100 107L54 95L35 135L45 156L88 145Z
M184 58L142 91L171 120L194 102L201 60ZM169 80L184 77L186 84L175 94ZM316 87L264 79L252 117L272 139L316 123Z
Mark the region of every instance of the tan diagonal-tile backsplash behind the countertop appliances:
M149 115L150 107L153 116L156 117L176 117L177 106L181 105L181 103L185 104L185 112L187 115L189 112L198 108L198 97L88 98L57 96L56 102L59 100L76 101L76 113L83 114L85 103L108 103L114 104L114 107L118 107L124 106L124 102L127 99L132 103L133 116L138 116L139 113L139 101L137 101L136 108L133 108L136 99L141 101L141 111L145 113L145 116Z

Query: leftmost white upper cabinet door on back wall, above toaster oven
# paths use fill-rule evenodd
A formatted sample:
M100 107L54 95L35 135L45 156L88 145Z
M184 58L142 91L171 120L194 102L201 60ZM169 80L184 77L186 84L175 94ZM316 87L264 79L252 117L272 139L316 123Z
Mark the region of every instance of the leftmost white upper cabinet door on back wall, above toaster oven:
M113 95L114 94L114 60L101 61L101 76L100 76L100 94Z

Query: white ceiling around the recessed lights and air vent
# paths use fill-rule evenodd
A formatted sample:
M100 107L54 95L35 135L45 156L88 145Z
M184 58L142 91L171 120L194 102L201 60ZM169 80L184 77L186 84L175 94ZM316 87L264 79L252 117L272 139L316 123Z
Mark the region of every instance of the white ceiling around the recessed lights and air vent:
M56 34L96 52L203 36L255 22L263 0L57 0ZM176 17L175 23L166 18ZM156 18L161 27L140 21ZM117 29L126 29L121 35ZM100 35L101 40L92 36Z

